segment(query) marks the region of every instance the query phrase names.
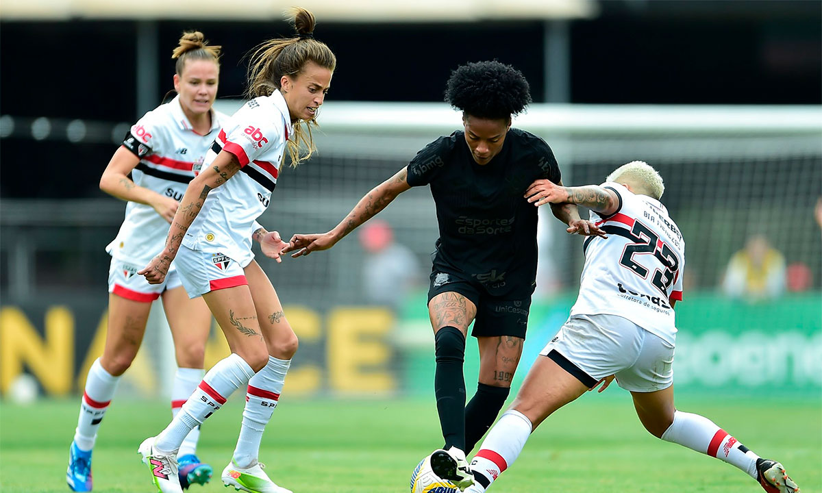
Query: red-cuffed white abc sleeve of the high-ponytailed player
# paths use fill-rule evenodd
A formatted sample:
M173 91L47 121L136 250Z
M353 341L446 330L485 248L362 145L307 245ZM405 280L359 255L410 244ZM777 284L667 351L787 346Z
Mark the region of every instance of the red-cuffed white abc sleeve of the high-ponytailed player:
M237 127L226 136L223 150L237 156L241 166L252 161L279 163L285 142L285 122L281 114L247 112L234 115Z

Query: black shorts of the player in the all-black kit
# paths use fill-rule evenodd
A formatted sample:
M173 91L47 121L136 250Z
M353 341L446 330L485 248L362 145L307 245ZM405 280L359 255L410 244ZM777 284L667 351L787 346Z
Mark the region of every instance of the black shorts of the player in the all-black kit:
M473 337L510 335L525 339L528 329L528 314L531 296L492 296L482 283L464 279L460 274L434 270L428 288L428 302L440 293L459 293L477 306L477 316L473 320Z

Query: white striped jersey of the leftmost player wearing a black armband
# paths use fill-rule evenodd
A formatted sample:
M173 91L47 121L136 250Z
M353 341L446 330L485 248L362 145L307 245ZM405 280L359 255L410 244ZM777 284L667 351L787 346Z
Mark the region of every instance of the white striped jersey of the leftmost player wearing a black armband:
M227 118L212 109L210 131L201 136L182 113L180 96L145 113L122 142L140 158L132 170L132 180L140 187L181 200L194 177L193 168L205 159ZM168 233L169 222L153 207L129 201L120 232L106 251L118 260L145 265L163 250Z

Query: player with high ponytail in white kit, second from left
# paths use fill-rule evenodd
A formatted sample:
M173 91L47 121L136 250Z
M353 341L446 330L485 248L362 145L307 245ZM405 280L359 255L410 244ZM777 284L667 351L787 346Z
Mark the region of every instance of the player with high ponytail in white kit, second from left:
M163 283L174 260L188 295L205 299L232 352L208 371L169 426L140 445L161 492L181 491L175 456L185 436L246 385L242 429L223 482L242 491L288 492L263 472L257 455L298 341L254 260L252 233L263 253L279 261L287 243L256 219L269 204L286 148L293 165L314 150L304 127L316 125L336 66L334 53L313 39L314 23L311 12L294 9L298 36L271 39L252 53L252 99L219 131L182 197L163 250L138 272L149 283ZM301 143L307 154L300 154Z

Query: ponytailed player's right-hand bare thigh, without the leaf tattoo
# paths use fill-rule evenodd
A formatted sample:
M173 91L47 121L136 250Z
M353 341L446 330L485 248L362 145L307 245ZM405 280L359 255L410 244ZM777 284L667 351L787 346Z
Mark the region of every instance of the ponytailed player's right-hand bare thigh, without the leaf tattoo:
M268 353L278 359L291 359L297 352L297 334L294 334L289 320L285 318L283 305L279 302L274 286L256 260L252 260L245 271Z

